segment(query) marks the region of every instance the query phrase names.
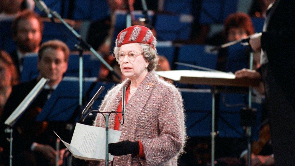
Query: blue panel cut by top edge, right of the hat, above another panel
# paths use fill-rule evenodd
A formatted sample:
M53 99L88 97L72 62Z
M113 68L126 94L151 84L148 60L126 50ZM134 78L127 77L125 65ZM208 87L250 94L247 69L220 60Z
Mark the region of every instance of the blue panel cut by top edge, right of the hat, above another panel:
M164 1L164 11L178 14L191 14L192 0L169 0Z

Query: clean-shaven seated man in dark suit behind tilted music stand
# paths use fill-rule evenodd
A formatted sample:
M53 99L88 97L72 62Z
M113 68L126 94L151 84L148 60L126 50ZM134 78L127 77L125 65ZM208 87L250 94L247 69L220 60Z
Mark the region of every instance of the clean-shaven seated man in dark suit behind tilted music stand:
M49 79L44 89L33 101L33 103L24 112L21 118L14 126L13 140L13 164L14 165L54 165L56 151L55 137L53 137L53 128L62 128L56 123L35 122L35 119L47 99L50 97L50 91L54 90L63 78L67 70L70 50L65 43L58 40L47 41L41 45L38 52L37 68L40 75L31 81L14 86L3 111L1 119L1 140L4 148L4 154L1 160L4 164L8 163L9 146L5 141L4 134L5 120L28 93L37 84L41 77Z

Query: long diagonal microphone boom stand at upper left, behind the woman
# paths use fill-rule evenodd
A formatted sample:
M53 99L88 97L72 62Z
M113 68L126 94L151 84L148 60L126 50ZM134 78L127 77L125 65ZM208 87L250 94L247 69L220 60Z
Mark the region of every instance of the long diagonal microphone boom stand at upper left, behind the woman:
M79 106L82 108L82 91L83 91L83 51L89 50L91 51L109 70L110 72L115 75L119 80L121 80L120 76L115 73L114 69L86 42L81 38L81 35L79 35L66 21L61 18L61 16L53 10L50 10L47 8L45 3L41 0L34 0L36 3L37 8L40 9L40 11L43 11L50 20L54 22L53 17L59 19L63 25L66 26L67 29L76 37L76 39L79 41L78 44L75 45L75 47L79 50Z

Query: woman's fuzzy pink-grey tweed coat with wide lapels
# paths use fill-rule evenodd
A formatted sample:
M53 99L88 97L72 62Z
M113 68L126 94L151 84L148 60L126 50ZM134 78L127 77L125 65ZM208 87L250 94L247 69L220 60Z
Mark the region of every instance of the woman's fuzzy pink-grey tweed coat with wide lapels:
M130 80L127 79L109 90L99 110L116 111L122 99L122 86L127 87L129 84ZM114 121L115 114L111 114L110 129L114 129ZM94 125L105 127L101 114L96 117ZM120 130L120 141L141 141L145 158L115 156L110 165L177 165L177 158L186 140L180 93L175 86L161 80L154 71L149 72L128 101L125 123L120 125ZM90 165L105 165L105 161L91 161Z

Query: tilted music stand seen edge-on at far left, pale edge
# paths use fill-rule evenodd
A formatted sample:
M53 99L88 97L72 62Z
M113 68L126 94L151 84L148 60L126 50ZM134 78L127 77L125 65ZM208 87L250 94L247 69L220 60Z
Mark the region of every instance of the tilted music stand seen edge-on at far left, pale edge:
M12 165L12 128L24 111L30 106L36 96L41 92L43 86L47 82L47 79L41 78L39 82L34 86L30 93L23 99L23 101L18 105L18 107L11 113L11 115L5 120L4 124L8 125L8 128L5 129L5 133L10 133L10 138L8 139L10 143L9 149L9 165Z

